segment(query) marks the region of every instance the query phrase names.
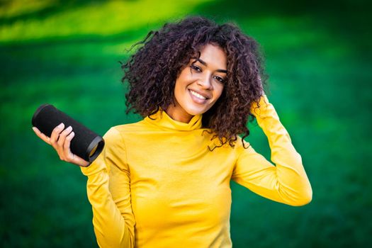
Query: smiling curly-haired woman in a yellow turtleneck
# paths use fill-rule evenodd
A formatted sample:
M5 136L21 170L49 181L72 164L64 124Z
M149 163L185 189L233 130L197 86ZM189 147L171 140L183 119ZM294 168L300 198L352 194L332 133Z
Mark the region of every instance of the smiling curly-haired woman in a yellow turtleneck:
M100 247L231 247L230 180L273 201L311 201L300 154L264 94L252 38L193 17L140 44L123 64L123 82L128 111L144 119L108 130L92 164L69 150L71 127L62 123L50 138L34 128L88 176ZM249 116L276 166L243 140Z

